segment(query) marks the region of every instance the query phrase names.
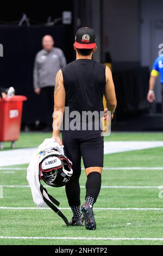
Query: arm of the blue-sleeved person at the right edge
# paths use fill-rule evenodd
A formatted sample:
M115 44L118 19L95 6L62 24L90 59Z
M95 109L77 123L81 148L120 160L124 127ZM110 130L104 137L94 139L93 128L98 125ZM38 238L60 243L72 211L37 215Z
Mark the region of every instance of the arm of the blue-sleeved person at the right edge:
M149 91L147 95L147 100L152 103L155 100L154 87L156 83L156 78L159 75L159 67L158 67L158 59L156 59L153 70L151 72L151 76L149 78Z

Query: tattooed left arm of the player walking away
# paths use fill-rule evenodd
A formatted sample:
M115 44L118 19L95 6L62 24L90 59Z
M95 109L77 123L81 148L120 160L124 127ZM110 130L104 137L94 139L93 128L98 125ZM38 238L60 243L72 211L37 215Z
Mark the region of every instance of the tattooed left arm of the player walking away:
M55 89L54 89L54 118L53 118L53 138L60 145L62 145L60 135L60 126L64 117L65 112L65 100L66 92L64 87L64 80L62 71L59 70L55 78Z

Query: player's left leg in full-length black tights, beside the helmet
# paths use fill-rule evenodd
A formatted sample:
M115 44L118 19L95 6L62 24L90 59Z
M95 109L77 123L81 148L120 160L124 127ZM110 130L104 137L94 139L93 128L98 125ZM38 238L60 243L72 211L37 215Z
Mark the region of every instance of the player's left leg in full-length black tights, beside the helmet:
M70 131L62 132L65 155L72 161L73 175L66 184L66 196L71 207L73 217L70 225L83 225L82 213L80 210L80 185L81 158L79 144L71 137Z

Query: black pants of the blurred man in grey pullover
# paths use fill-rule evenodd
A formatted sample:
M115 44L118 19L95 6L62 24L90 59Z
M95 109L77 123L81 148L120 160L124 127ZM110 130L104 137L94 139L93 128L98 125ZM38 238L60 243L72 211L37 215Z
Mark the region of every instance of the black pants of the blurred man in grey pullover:
M53 124L53 112L54 112L54 87L48 86L41 88L41 109L43 122L50 128Z

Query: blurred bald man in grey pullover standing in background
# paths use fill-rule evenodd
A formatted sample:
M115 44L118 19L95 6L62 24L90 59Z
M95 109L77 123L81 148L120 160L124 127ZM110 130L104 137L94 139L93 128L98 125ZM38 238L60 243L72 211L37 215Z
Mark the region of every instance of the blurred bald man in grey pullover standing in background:
M51 35L43 36L42 46L35 57L34 90L41 95L42 115L46 123L43 131L48 132L52 131L55 76L66 65L66 58L60 48L54 47Z

